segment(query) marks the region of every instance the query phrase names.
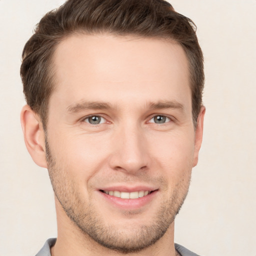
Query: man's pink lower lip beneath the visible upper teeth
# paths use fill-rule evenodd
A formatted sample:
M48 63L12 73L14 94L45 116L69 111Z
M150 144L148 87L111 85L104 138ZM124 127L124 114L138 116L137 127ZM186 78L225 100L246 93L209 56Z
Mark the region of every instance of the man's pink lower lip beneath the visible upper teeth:
M111 204L122 208L122 209L138 209L143 207L144 205L150 203L152 199L155 197L157 190L152 191L150 194L147 194L145 196L136 198L136 199L123 199L120 197L116 197L113 195L106 194L104 192L98 191L101 196L103 196L108 202Z

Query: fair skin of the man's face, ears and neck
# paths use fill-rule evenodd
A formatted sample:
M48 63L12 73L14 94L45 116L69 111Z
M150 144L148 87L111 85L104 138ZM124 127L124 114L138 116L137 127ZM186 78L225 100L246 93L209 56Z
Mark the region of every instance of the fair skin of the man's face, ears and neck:
M194 127L183 49L79 34L58 45L53 63L46 133L27 105L21 112L28 151L48 168L55 192L51 254L175 255L174 217L197 164L205 112L202 106ZM100 191L110 187L154 192L122 207Z

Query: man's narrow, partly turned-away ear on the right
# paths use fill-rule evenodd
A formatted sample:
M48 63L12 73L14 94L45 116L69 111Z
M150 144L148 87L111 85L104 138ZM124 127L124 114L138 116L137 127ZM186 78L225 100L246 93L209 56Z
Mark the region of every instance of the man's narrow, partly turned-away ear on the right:
M201 106L200 112L197 117L197 123L196 123L196 129L195 129L193 167L198 162L198 153L202 143L204 114L205 114L205 106Z

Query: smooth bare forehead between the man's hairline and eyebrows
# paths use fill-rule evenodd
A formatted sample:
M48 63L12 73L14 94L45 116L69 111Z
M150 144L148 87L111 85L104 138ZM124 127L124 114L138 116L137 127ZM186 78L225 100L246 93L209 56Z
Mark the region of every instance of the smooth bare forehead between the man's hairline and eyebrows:
M56 87L51 97L66 104L83 99L118 103L134 95L141 101L178 101L185 100L184 90L190 104L188 62L175 42L74 34L57 46L53 63Z

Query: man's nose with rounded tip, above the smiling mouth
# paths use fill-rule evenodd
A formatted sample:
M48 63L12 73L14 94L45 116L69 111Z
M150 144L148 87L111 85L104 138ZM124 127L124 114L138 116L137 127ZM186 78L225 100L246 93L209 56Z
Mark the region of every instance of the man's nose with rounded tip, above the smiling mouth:
M142 128L131 125L120 128L112 140L112 169L135 173L149 166L148 146Z

